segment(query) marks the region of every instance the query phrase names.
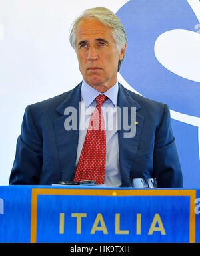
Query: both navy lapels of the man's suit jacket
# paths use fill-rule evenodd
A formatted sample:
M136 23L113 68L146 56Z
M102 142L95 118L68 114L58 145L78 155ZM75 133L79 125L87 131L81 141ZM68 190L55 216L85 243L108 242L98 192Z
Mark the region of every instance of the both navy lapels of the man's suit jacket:
M79 140L79 102L81 100L81 84L75 89L69 92L66 100L57 108L57 112L61 116L54 121L55 138L57 143L57 150L59 153L59 161L62 170L62 180L72 180L75 172L75 161L77 157L77 146ZM136 107L138 111L141 106L133 100L131 94L119 84L119 93L117 105L123 107ZM65 115L65 109L67 107L73 107L77 110L77 130L65 130L65 120L70 115ZM127 130L123 129L123 116L121 118L121 130L118 131L119 140L119 165L121 171L122 186L129 186L130 170L135 154L137 152L137 146L141 136L141 130L143 128L143 116L136 114L136 135L133 138L125 138L124 133ZM129 122L130 124L130 122Z

